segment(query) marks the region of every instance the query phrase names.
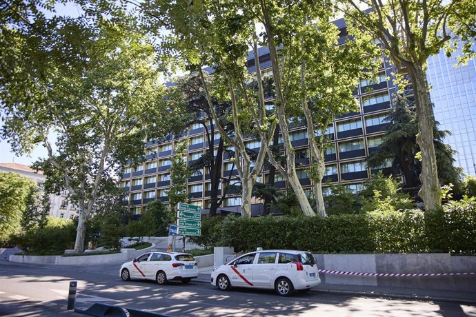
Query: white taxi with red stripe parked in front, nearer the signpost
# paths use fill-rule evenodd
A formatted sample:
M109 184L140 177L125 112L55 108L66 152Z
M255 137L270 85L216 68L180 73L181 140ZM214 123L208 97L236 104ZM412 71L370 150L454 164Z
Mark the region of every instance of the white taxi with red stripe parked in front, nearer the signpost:
M198 277L198 265L192 255L180 252L149 252L126 262L119 270L122 280L156 280L164 285L168 280L188 283Z

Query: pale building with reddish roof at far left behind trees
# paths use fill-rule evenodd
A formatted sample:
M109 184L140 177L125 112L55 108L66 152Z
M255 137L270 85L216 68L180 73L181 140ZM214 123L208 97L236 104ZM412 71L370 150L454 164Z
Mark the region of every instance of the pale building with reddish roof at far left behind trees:
M32 170L28 165L19 163L0 163L0 172L13 172L30 178L38 187L37 200L41 201L45 194L43 184L46 181L46 176L41 171ZM50 194L50 216L56 218L72 218L76 216L77 209L71 203L68 203L67 192L62 192L61 195Z

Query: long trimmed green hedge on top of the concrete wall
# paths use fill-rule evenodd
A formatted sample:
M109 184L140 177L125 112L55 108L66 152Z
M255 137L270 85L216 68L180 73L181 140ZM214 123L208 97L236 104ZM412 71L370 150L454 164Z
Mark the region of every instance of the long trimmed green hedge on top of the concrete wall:
M304 249L316 253L476 254L476 201L451 203L437 211L304 216L205 218L195 243L235 251Z

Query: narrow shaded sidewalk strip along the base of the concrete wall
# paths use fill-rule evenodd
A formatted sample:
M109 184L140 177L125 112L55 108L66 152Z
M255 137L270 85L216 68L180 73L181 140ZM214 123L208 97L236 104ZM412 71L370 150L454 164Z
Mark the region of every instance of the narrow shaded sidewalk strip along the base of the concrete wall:
M210 275L213 267L199 268L199 277L195 279L199 283L210 283ZM439 289L417 289L413 287L383 287L366 285L339 285L339 284L321 284L310 292L357 295L367 297L390 297L411 300L433 300L450 303L461 303L466 305L476 305L476 287L475 292L454 292Z

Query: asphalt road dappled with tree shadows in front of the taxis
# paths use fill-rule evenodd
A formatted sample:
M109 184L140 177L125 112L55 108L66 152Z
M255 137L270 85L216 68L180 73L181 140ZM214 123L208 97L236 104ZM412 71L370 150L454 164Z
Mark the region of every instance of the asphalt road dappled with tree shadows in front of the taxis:
M476 316L475 306L457 303L314 291L282 298L271 291L220 292L208 283L123 282L120 265L0 262L0 316L86 316L66 311L70 280L78 281L76 307L106 303L169 316Z

